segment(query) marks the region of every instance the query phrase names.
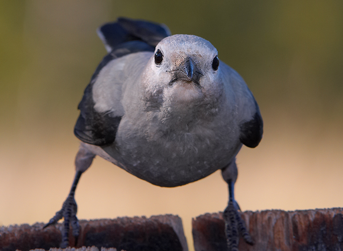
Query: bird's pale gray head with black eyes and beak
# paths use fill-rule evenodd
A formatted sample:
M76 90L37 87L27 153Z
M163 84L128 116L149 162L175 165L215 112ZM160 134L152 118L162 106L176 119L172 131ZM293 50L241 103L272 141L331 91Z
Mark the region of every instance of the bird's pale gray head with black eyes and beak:
M217 50L193 35L164 38L145 72L147 92L160 93L167 102L203 103L204 98L218 96L222 90Z

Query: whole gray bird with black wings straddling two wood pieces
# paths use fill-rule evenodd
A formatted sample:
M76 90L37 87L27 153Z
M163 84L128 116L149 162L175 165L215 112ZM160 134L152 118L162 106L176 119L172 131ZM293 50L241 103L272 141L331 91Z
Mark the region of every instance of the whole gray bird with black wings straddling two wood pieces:
M82 142L76 174L62 209L44 227L64 217L78 236L75 189L98 155L161 187L176 187L220 169L228 184L224 210L229 250L239 235L253 244L235 201L236 155L256 147L263 122L242 77L218 59L213 45L193 35L173 35L164 25L120 18L98 29L108 54L78 106L74 134Z

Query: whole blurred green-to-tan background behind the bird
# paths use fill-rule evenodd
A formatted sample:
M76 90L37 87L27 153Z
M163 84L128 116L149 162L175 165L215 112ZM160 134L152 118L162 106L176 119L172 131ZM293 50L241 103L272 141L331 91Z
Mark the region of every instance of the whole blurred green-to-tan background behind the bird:
M105 49L96 28L124 16L209 40L264 118L238 155L242 210L343 206L342 1L0 0L0 225L47 222L74 177L73 127ZM76 190L80 219L222 211L220 172L160 188L96 158Z

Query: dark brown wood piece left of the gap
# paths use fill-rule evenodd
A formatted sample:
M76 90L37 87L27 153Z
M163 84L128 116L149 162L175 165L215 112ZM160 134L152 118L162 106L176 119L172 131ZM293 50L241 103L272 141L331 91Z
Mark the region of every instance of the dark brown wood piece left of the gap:
M0 228L0 250L27 251L59 247L62 224L43 229L43 223ZM181 218L174 215L123 217L117 219L80 220L77 247L116 247L118 250L187 251ZM75 240L70 233L71 246Z

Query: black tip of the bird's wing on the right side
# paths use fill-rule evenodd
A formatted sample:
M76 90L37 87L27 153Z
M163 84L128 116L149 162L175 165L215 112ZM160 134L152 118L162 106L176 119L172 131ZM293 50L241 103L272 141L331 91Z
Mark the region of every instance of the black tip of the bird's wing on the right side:
M259 111L256 111L254 117L240 125L240 141L250 148L257 147L263 135L263 120Z

